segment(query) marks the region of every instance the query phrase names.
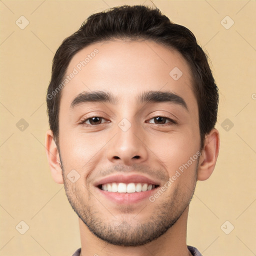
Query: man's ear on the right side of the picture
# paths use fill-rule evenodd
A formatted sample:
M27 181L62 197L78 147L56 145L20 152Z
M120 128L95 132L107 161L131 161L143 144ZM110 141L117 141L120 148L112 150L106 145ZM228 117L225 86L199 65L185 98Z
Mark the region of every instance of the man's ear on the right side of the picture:
M199 158L197 180L207 179L216 164L219 151L219 132L215 128L205 136L203 149Z

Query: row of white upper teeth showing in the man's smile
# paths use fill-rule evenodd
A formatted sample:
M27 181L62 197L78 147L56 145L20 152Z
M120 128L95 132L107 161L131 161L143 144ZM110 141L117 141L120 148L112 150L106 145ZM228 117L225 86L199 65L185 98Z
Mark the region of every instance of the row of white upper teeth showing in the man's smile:
M146 190L151 190L155 187L155 185L147 184L147 183L105 183L102 184L102 190L108 192L118 192L118 193L134 193L141 192Z

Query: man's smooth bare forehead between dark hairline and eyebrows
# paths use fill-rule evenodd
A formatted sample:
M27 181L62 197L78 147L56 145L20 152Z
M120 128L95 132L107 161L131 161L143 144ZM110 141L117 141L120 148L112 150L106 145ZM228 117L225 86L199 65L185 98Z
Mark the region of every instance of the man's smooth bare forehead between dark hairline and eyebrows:
M121 100L143 91L168 90L196 104L185 59L176 50L149 40L111 40L86 46L72 57L64 78L60 105L70 105L77 94L93 90L111 91Z

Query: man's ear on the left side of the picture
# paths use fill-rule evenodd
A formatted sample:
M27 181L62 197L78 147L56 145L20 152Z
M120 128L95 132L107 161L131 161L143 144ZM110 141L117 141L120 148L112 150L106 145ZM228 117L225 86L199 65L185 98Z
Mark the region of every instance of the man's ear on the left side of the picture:
M51 130L47 130L46 132L45 149L53 180L58 184L63 184L59 153Z

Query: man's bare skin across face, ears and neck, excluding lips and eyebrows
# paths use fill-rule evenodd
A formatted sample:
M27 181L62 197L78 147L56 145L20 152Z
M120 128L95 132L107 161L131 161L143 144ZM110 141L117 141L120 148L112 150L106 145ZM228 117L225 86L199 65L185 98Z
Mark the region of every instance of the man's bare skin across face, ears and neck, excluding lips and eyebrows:
M76 53L66 74L95 48L98 53L61 90L59 148L51 130L45 140L52 177L64 183L79 216L81 255L191 255L186 247L189 202L196 180L207 179L214 169L219 134L212 129L200 151L189 66L177 51L155 42L114 40L94 43ZM169 75L174 67L182 71L178 80ZM117 101L70 108L79 93L97 90L111 92ZM149 90L179 95L187 110L170 102L140 103L137 96ZM93 116L102 117L94 126L87 119ZM176 123L159 121L157 116ZM126 131L118 126L123 118L131 125ZM200 156L153 202L146 198L115 203L93 185L105 176L134 173L158 180L160 189L199 151ZM80 175L74 183L66 176L72 169Z

